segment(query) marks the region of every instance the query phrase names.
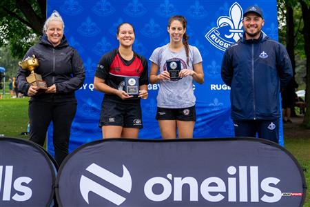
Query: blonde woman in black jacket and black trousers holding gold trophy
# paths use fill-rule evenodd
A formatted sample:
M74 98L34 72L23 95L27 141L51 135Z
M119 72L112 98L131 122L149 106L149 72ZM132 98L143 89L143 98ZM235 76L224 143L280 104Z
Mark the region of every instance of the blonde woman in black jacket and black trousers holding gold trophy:
M24 57L35 55L38 59L39 66L34 72L47 83L45 92L26 81L30 71L19 68L17 73L19 91L31 97L30 140L43 146L52 121L55 159L59 165L68 155L70 128L77 103L74 92L81 88L85 79L83 62L65 39L64 27L63 19L54 11L45 21L41 41L32 46Z

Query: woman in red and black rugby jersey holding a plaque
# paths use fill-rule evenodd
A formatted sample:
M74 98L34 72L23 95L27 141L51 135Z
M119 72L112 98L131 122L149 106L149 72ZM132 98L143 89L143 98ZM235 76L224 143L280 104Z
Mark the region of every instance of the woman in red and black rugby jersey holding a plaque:
M141 98L147 99L147 60L132 50L135 34L130 23L117 28L118 48L101 57L94 77L94 88L105 93L101 106L99 127L103 139L138 138L143 128ZM136 77L138 95L128 95L125 78Z

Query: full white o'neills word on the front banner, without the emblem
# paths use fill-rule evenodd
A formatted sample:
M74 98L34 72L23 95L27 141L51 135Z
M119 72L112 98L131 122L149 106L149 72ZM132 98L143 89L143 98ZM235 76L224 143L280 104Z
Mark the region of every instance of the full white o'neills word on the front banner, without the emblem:
M208 177L201 184L198 184L194 177L173 177L172 174L168 174L167 177L152 177L145 183L144 193L152 201L165 201L172 194L174 201L182 201L183 186L188 185L190 201L198 201L198 194L210 202L227 199L229 202L264 201L266 203L276 203L282 197L281 190L276 188L280 179L276 177L259 179L258 166L250 166L249 169L247 166L239 166L238 172L236 167L229 166L227 172L231 176L225 179ZM155 185L162 186L161 193L154 193L153 187ZM259 194L260 190L264 192L263 195ZM223 195L226 192L227 197Z

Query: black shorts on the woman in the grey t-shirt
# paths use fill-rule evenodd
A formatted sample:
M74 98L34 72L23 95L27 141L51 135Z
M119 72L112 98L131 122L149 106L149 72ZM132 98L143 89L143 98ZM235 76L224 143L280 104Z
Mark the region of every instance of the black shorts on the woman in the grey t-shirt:
M180 121L196 121L195 106L188 108L161 108L157 107L157 120L180 120Z

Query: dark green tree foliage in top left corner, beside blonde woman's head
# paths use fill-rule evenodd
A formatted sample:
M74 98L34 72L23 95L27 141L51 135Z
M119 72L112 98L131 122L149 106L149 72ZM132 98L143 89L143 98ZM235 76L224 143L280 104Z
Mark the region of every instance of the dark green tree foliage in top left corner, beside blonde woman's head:
M0 47L19 59L34 44L46 19L45 0L0 1Z

